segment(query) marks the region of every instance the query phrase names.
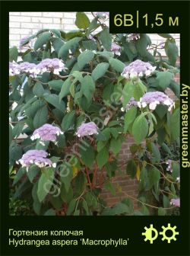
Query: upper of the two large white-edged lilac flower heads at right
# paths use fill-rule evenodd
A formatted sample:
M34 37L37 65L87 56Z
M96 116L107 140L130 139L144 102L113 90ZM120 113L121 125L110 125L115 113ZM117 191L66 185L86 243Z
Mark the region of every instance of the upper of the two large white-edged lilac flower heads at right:
M143 62L140 59L131 62L128 66L125 66L122 72L122 76L125 78L141 77L143 75L150 75L156 67L153 67L148 62Z

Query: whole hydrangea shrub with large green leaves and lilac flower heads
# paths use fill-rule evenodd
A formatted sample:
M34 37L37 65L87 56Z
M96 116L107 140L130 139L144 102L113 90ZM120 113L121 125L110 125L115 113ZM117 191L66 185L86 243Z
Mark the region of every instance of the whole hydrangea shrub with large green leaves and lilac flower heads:
M180 205L179 161L169 155L179 140L176 42L169 34L160 34L158 46L147 34L109 34L109 13L93 17L78 12L78 30L43 29L22 39L22 60L10 49L14 197L27 194L36 215L171 214ZM126 172L139 182L132 198L113 183L131 136ZM122 194L121 202L106 206L103 189Z

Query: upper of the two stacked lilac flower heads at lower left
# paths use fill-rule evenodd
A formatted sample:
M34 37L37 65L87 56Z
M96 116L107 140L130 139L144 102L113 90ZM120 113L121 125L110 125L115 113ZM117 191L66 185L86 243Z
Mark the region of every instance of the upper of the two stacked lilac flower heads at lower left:
M62 130L59 127L52 126L51 124L46 123L33 132L33 136L31 136L31 139L41 139L42 141L47 140L55 142L59 134L63 134Z

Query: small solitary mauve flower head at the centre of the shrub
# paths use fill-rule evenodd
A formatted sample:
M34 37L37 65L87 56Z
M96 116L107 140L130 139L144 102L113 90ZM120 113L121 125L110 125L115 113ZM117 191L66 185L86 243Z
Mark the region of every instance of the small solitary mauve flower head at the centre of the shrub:
M96 123L90 122L90 123L82 123L81 126L78 127L76 135L78 137L98 134L98 127Z

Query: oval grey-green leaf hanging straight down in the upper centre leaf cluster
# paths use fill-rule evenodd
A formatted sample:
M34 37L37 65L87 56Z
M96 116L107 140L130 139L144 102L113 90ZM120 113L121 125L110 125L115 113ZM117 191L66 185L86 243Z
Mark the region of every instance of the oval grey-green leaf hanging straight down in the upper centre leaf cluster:
M90 75L85 75L81 82L81 91L84 96L87 98L87 101L90 101L93 98L93 92L95 91L95 84L93 78Z

